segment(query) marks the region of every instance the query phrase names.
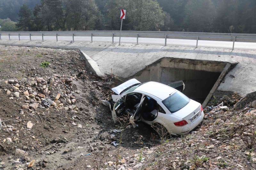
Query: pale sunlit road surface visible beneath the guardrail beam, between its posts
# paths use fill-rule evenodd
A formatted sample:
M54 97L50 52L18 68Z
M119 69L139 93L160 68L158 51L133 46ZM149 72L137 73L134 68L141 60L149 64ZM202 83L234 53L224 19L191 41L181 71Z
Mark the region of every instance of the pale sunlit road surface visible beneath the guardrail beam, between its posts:
M8 39L8 36L2 36L2 39ZM11 40L19 39L18 36L10 36ZM29 40L29 36L20 36L21 40ZM31 40L42 40L41 36L31 36ZM44 36L44 40L56 41L55 36ZM58 36L59 41L72 41L72 36ZM75 41L91 41L91 37L74 37ZM93 41L112 41L112 37L93 37ZM114 42L118 42L119 37L114 37ZM121 43L136 43L137 39L133 37L121 37ZM139 44L157 44L164 45L164 39L161 38L139 38ZM167 39L167 45L196 46L196 40ZM198 47L211 48L232 48L232 41L205 41L199 40ZM256 49L254 42L235 42L236 49Z

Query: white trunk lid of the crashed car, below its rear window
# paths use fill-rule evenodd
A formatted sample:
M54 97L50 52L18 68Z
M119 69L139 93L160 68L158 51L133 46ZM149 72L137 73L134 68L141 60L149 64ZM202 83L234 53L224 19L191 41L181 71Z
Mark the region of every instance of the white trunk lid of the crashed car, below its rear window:
M190 110L190 111L189 111ZM191 112L192 110L192 112ZM189 119L191 119L192 117L194 117L195 115L197 115L197 113L199 113L199 115L194 119L194 121L200 117L200 113L201 113L201 104L194 101L194 100L190 100L190 102L183 107L182 109L180 109L179 111L173 113L173 115L185 120L188 122L188 124L191 124L194 121L190 121Z

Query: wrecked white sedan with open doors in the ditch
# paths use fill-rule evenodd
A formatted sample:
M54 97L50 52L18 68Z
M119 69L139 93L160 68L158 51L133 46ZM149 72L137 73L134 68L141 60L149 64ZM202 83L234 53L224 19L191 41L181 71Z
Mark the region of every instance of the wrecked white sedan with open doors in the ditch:
M202 105L182 93L182 81L164 85L157 82L140 83L131 79L112 88L113 101L109 104L116 123L118 116L130 114L130 122L161 125L171 135L181 135L195 129L204 118Z

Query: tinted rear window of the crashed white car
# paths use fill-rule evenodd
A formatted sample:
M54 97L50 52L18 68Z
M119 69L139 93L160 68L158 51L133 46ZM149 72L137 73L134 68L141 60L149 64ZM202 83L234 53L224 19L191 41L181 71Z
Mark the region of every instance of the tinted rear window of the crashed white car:
M189 103L190 99L177 91L162 101L164 106L171 112L177 112Z

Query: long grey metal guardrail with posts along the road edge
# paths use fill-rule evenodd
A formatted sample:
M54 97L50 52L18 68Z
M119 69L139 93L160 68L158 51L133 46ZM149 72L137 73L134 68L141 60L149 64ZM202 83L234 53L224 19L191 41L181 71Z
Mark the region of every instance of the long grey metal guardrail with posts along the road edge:
M92 37L112 37L112 43L114 43L114 37L119 37L119 31L42 31L42 32L0 32L1 35L9 36L72 36L74 41L75 36L90 36L91 42ZM236 33L194 33L194 32L163 32L163 31L122 31L122 37L136 37L137 44L139 38L163 38L164 45L166 46L166 39L185 39L185 40L196 40L196 48L198 40L209 40L209 41L233 41L233 48L235 41L238 42L256 42L256 34L236 34Z

